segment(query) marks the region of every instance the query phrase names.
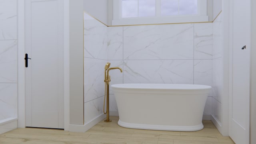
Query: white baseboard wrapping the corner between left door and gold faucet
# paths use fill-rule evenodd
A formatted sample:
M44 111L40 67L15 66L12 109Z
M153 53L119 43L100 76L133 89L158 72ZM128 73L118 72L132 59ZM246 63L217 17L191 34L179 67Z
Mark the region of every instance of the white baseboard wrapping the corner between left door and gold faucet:
M69 131L70 132L86 132L96 124L98 124L100 121L102 121L105 118L104 114L101 114L100 116L94 118L90 122L84 124L84 125L76 125L76 124L70 124L69 125Z

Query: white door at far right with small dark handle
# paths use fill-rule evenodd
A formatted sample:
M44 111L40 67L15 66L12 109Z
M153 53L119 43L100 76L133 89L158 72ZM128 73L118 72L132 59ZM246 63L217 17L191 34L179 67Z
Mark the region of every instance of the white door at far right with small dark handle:
M232 4L233 1L233 4ZM250 117L250 0L232 0L232 96L229 134L236 144L249 144ZM243 46L246 48L242 49Z

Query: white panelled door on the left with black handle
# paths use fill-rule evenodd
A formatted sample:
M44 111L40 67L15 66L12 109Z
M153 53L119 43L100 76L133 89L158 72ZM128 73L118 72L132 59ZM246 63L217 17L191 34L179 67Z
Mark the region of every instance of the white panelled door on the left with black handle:
M25 0L26 126L64 128L62 0Z

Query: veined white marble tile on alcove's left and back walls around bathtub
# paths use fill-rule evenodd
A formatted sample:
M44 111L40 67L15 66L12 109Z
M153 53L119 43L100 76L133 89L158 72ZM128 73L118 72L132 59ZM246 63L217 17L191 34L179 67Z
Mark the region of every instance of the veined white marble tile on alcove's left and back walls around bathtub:
M86 20L87 19L87 20ZM87 22L86 22L87 21ZM104 66L110 84L176 83L212 86L214 63L212 23L106 27L85 14L85 121L102 114ZM106 30L107 29L107 30ZM106 48L107 47L107 48ZM212 114L209 94L204 114ZM110 88L110 111L117 111ZM101 102L102 101L102 104Z

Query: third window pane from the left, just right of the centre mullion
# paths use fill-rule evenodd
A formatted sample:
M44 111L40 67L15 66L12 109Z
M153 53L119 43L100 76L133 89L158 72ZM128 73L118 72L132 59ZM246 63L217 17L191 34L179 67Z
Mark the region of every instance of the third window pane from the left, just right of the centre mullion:
M187 0L190 1L190 0ZM179 0L161 0L161 15L173 16L179 14Z

